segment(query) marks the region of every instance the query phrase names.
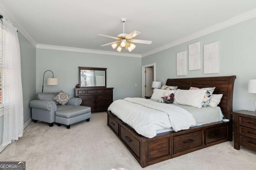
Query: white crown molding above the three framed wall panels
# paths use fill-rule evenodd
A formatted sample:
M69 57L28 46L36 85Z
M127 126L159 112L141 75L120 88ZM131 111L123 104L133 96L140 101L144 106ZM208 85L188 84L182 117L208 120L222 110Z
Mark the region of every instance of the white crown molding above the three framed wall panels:
M206 29L202 29L196 33L192 33L186 37L183 37L181 39L178 39L176 41L173 41L172 43L169 43L169 44L166 44L162 47L159 47L157 49L154 49L152 51L149 51L147 53L144 53L142 54L142 57L146 57L148 55L152 55L154 53L158 53L160 51L163 51L163 50L166 50L166 49L169 49L171 47L174 47L176 45L180 45L182 43L185 43L185 42L188 42L190 40L193 40L193 39L196 39L198 37L202 37L204 35L207 35L207 34L210 34L210 33L213 33L215 31L219 31L221 29L224 29L226 27L230 27L232 25L235 25L237 23L240 23L240 22L243 22L243 21L246 21L246 20L250 20L252 18L255 18L256 17L256 8L253 9L253 10L250 10L248 12L245 12L243 14L240 14L238 16L235 16L233 18L230 18L226 21L223 21L223 22L220 22L220 23L217 23L215 25L212 25L211 27L208 27Z

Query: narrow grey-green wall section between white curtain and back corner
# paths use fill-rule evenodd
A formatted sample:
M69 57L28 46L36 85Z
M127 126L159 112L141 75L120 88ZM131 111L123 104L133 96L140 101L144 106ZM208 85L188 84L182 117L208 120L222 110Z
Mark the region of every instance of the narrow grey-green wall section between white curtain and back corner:
M24 123L31 119L30 100L36 98L36 47L18 32L21 58Z

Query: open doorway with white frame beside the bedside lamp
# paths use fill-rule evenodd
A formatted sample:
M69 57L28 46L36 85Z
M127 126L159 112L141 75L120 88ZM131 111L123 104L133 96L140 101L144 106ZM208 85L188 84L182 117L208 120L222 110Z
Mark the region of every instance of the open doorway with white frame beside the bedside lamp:
M152 96L152 82L156 79L156 63L142 66L142 98Z

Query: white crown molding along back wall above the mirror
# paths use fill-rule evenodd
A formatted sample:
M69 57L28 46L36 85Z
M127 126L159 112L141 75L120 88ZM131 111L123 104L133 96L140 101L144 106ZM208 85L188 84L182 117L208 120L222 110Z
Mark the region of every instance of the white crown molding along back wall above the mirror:
M74 52L80 52L80 53L93 53L93 54L116 55L116 56L124 56L124 57L138 57L138 58L141 58L140 54L120 53L120 52L92 50L92 49L82 49L82 48L75 48L75 47L63 47L63 46L46 45L46 44L37 44L36 48L37 49L52 49L52 50L61 50L61 51L74 51Z

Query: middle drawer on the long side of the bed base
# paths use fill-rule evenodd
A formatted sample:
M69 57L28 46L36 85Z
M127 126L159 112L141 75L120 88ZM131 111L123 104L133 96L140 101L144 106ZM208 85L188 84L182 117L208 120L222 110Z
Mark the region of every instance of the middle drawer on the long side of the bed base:
M202 131L174 137L174 154L203 145Z

